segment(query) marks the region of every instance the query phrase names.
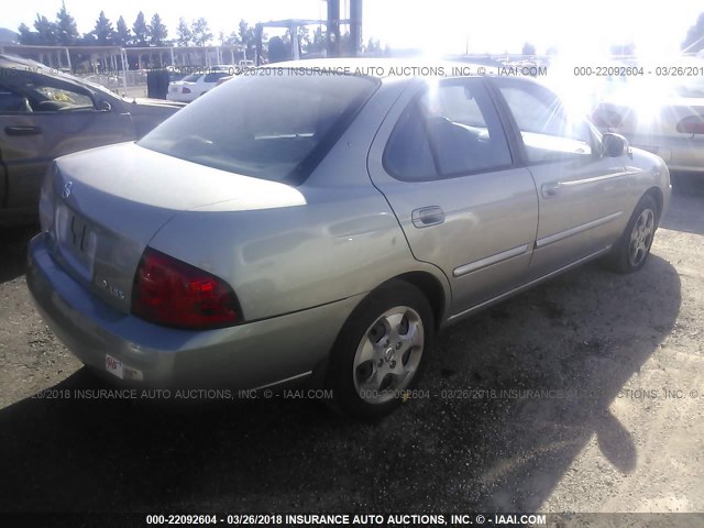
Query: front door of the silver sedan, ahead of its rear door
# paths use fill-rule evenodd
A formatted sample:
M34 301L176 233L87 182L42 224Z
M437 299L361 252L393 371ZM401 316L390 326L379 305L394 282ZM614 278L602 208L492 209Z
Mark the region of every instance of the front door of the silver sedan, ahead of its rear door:
M631 201L625 157L603 155L598 133L570 116L548 88L508 77L491 82L520 132L522 157L538 189L530 278L608 248L629 215L624 210Z

